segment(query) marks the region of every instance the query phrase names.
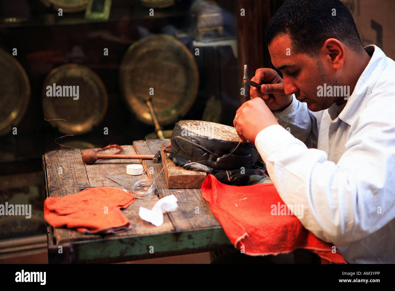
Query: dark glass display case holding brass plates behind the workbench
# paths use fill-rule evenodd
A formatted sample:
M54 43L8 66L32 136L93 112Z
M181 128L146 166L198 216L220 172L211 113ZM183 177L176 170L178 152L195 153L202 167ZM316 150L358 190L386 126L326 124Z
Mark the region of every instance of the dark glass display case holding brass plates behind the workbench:
M12 90L2 96L7 106L0 163L39 159L45 151L62 148L55 139L64 134L75 133L58 142L78 148L154 137L144 98L152 99L165 130L180 119L232 124L239 106L235 2L0 3L2 57L15 61L13 75L21 79L8 80ZM166 44L157 41L164 35ZM139 69L128 71L133 64ZM49 92L47 86L56 81L79 86L79 100L51 98L56 88ZM134 97L143 101L134 106ZM71 131L62 120L44 118L65 119ZM17 134L12 134L14 127Z

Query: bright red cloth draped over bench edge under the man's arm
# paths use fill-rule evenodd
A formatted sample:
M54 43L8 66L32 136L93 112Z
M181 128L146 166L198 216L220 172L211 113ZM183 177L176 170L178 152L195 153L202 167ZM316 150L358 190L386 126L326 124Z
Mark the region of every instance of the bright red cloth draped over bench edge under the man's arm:
M303 248L319 255L322 263L346 264L337 250L332 252L331 244L309 232L296 216L277 212L284 202L273 184L230 186L207 175L201 194L230 242L246 255L277 255Z

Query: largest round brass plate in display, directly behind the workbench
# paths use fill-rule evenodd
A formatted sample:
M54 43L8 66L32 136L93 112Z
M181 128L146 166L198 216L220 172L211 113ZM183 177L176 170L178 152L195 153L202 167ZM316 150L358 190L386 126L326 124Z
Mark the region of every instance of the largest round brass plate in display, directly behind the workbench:
M190 110L198 83L198 67L192 53L165 34L135 42L120 66L120 85L128 105L140 121L150 125L154 122L147 99L151 98L159 124L171 124Z

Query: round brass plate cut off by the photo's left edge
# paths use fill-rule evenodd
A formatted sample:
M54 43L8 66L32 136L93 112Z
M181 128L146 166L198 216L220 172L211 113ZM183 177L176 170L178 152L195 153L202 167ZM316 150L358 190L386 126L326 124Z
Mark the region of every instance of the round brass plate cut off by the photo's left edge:
M30 84L21 64L0 49L0 136L19 124L28 106Z

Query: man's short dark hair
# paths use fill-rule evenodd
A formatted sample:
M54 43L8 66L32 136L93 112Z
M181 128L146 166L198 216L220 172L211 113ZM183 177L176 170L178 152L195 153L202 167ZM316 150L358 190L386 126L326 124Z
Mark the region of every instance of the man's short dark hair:
M335 10L333 10L335 9ZM336 16L332 16L333 12ZM357 53L361 39L350 11L339 0L287 0L270 19L265 42L288 34L293 50L316 56L328 38L336 38Z

